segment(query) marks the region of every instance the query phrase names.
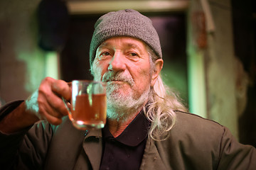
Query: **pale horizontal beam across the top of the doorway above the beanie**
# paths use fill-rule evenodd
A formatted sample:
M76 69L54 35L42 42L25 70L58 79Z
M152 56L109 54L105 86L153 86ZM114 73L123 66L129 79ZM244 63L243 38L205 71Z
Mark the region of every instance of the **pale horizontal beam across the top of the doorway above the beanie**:
M107 13L132 8L140 12L186 11L188 0L169 1L67 1L70 15Z

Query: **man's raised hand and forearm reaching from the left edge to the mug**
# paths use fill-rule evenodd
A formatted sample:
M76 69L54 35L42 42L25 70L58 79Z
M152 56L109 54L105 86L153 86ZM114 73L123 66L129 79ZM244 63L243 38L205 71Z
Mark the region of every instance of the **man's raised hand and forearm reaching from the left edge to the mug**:
M62 80L46 77L38 90L1 120L1 132L18 132L38 120L47 120L53 125L59 125L63 116L68 115L62 97L66 100L71 98L68 84Z

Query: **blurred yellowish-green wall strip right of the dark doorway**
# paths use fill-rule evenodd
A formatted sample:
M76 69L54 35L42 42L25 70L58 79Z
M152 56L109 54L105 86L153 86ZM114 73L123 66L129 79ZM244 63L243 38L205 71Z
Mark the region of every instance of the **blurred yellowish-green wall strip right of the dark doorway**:
M188 47L203 57L205 72L206 118L215 120L230 129L238 138L238 111L235 98L235 55L233 49L232 7L230 0L208 1L210 14L213 17L215 30L207 33L207 46L203 49L194 43L195 35L190 33ZM201 1L192 0L189 17L193 13L203 11ZM188 27L193 29L193 22L189 21ZM208 21L206 21L208 22ZM206 23L207 24L207 23ZM193 54L195 55L195 54ZM193 89L191 89L193 90Z

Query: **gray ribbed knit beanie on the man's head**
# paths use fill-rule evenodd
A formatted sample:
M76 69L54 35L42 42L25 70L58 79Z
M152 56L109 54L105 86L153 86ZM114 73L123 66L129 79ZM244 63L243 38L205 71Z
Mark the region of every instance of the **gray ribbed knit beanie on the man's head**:
M95 31L90 44L90 65L95 58L97 47L108 38L129 36L146 42L162 58L159 35L152 22L138 11L125 9L101 16L95 23Z

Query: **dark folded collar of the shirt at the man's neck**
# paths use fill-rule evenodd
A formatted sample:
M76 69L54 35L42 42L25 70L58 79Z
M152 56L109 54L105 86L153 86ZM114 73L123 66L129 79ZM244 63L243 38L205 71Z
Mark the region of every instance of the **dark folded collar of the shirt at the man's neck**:
M135 147L147 137L149 128L150 122L147 120L142 110L118 137L114 138L112 136L107 124L105 128L102 129L102 134L105 138L114 138L114 140L124 145Z

